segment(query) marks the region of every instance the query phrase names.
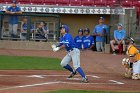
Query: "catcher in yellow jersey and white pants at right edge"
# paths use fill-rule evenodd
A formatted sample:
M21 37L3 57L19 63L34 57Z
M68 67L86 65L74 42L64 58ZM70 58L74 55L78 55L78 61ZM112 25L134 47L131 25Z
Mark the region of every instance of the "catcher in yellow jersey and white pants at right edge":
M127 55L131 63L133 63L132 79L140 79L140 53L134 46L134 39L130 38L128 41Z

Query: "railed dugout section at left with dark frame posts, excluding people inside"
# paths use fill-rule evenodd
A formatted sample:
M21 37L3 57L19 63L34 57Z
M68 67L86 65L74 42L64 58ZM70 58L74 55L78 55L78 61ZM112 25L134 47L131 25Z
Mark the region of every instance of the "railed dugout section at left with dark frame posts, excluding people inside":
M16 15L16 14L15 14ZM42 14L42 13L23 13L17 15L18 29L17 36L11 37L9 32L8 17L13 16L11 14L0 13L0 39L1 40L23 40L21 39L21 27L23 18L27 18L27 33L26 39L28 41L57 41L59 38L59 27L60 27L60 16L57 14ZM37 28L40 22L45 22L47 33L44 38L37 38ZM32 24L33 29L31 31L30 25Z

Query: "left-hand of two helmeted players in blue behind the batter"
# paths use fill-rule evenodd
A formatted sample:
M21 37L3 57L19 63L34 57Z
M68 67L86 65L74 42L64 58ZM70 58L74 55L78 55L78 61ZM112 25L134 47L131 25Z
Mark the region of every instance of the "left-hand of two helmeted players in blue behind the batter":
M80 28L78 30L78 35L74 38L76 48L80 50L83 49L83 38L84 38L83 33L84 33L83 29Z

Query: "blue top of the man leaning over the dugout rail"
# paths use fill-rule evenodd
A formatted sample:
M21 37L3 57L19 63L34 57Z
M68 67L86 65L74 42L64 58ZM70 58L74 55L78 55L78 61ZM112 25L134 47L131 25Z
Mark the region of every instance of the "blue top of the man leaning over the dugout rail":
M8 11L11 12L19 12L21 11L21 8L16 6L16 8L13 8L12 6L7 8ZM9 24L18 24L18 16L17 15L9 15Z

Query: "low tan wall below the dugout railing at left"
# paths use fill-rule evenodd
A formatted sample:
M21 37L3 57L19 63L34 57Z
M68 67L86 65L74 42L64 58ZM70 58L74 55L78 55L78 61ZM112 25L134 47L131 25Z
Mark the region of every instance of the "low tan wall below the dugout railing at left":
M52 50L52 42L0 40L0 49ZM53 42L57 44L57 42Z

